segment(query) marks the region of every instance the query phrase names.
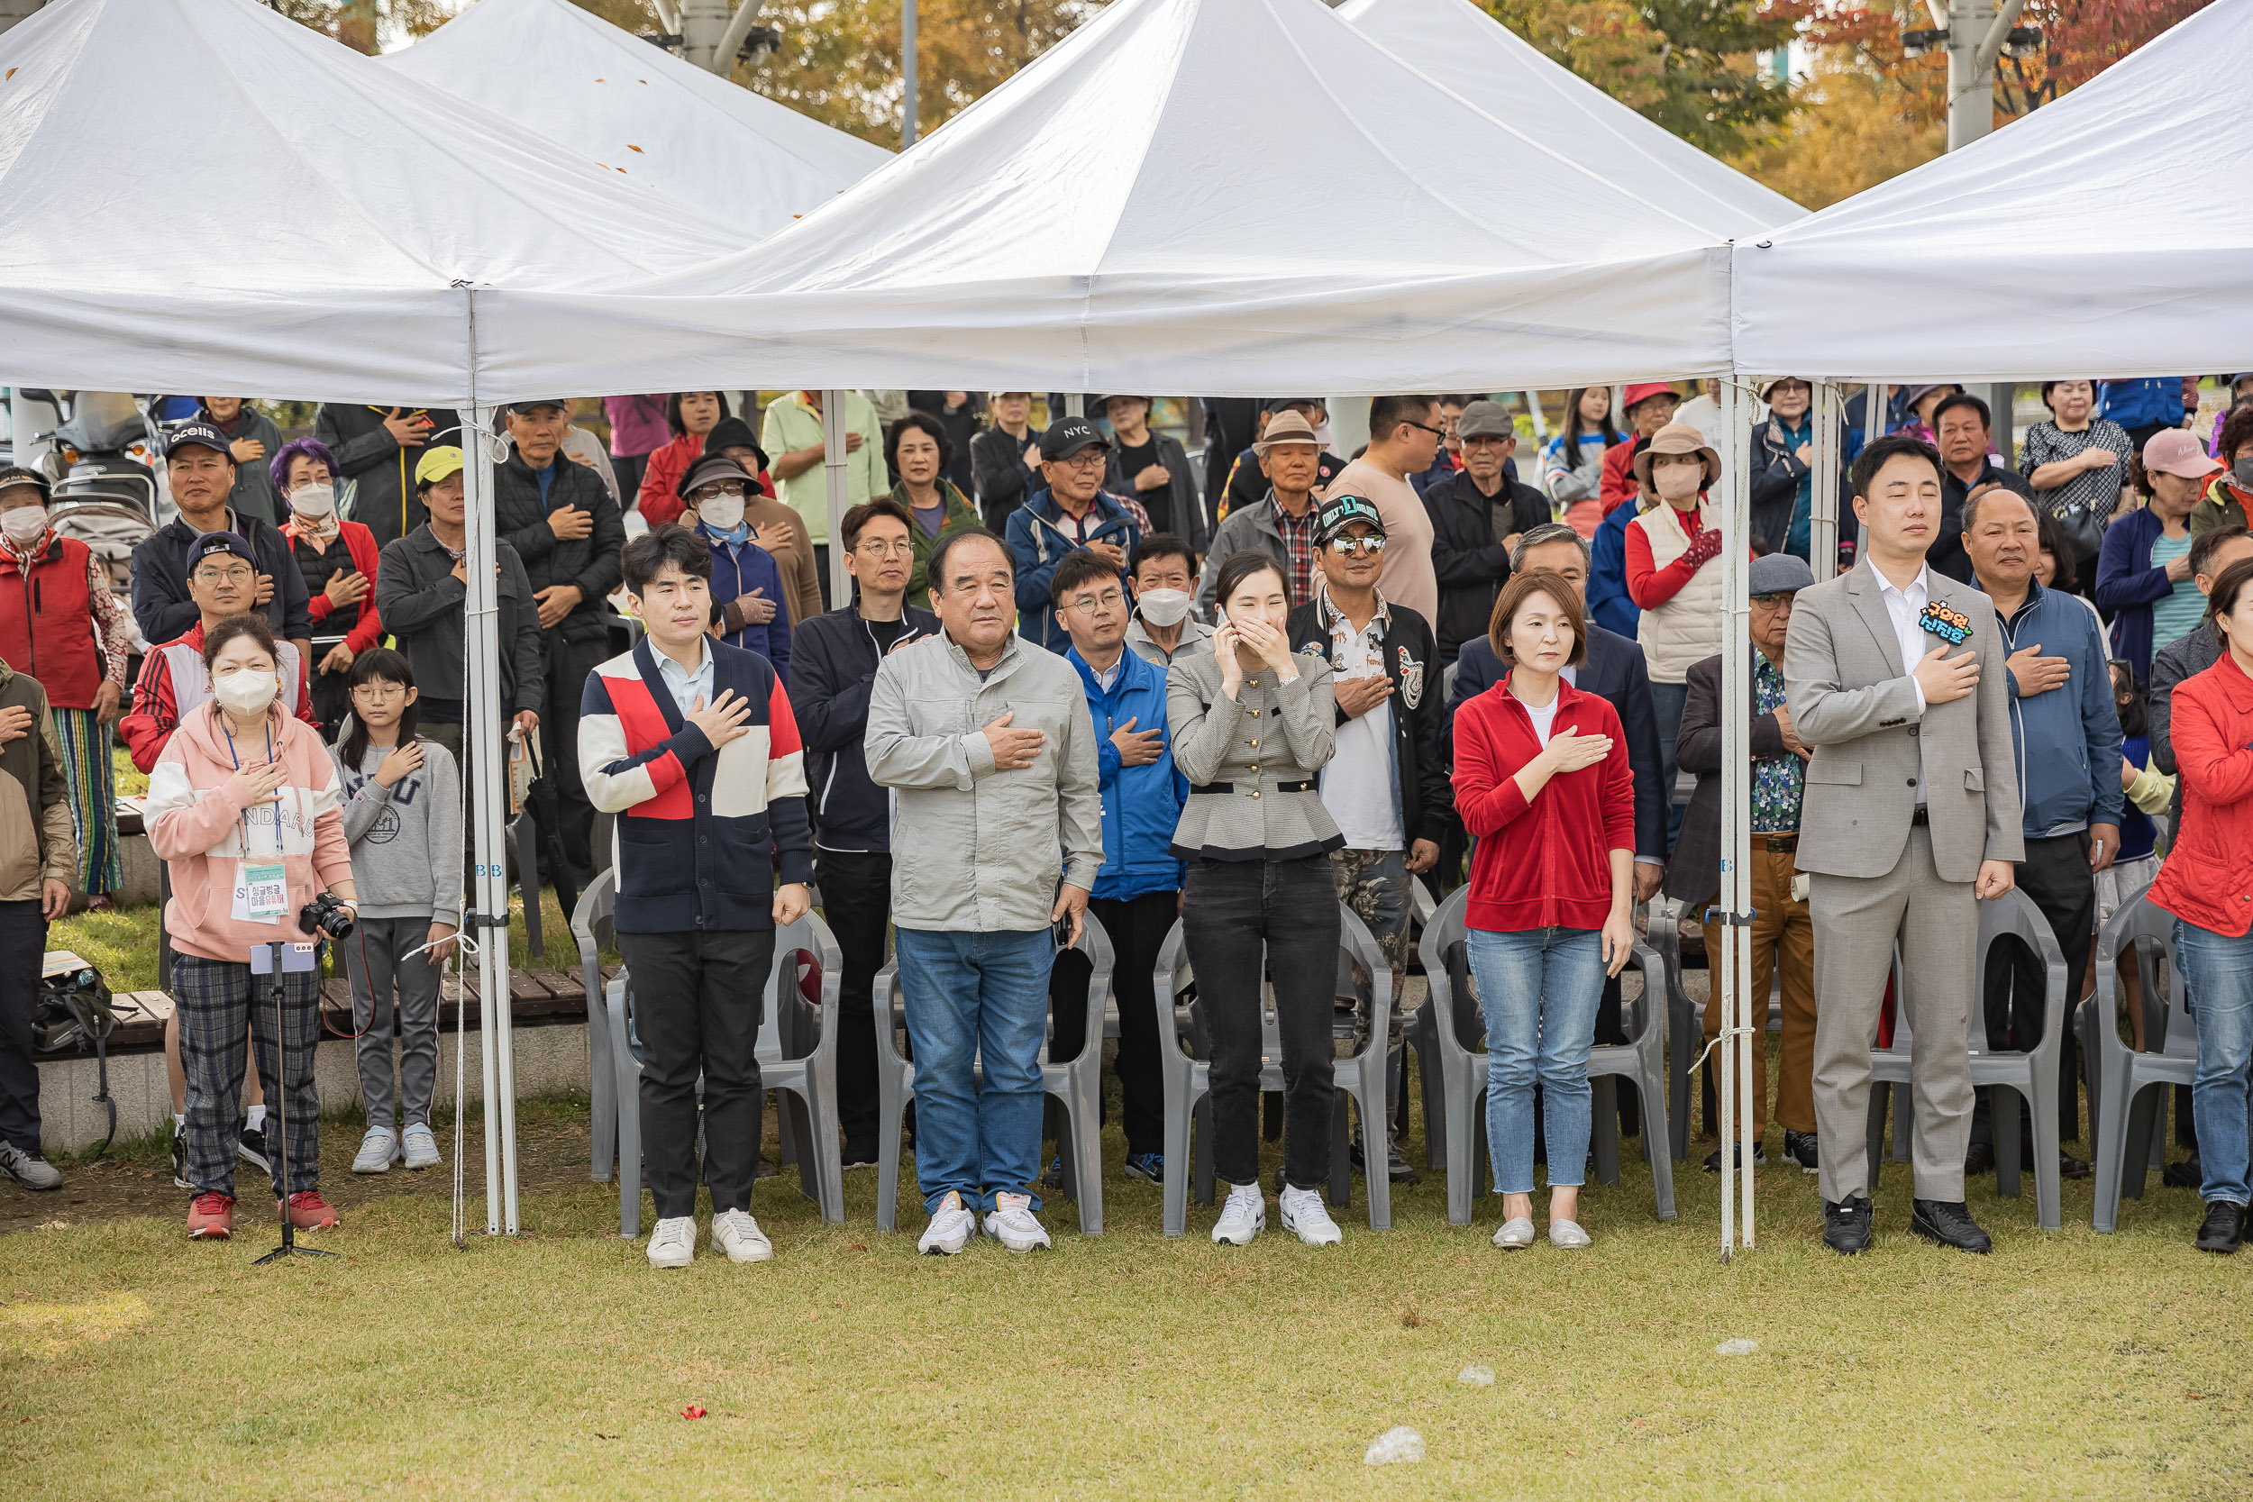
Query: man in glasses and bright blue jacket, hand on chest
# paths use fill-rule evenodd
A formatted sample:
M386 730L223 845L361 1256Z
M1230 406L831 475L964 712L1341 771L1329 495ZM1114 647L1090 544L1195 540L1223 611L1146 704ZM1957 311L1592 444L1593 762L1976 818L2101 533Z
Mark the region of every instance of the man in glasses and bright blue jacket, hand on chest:
M1120 567L1081 547L1050 579L1057 626L1070 637L1063 660L1079 669L1095 716L1095 766L1104 793L1104 865L1088 914L1111 939L1111 991L1120 1009L1120 1097L1126 1119L1126 1171L1165 1180L1165 1081L1158 1074L1158 1007L1151 973L1181 914L1181 862L1174 826L1190 779L1174 770L1165 727L1165 669L1126 651L1133 619ZM1059 955L1048 982L1057 1029L1050 1058L1072 1058L1086 1040L1088 962ZM1097 1047L1102 1040L1097 1038Z

